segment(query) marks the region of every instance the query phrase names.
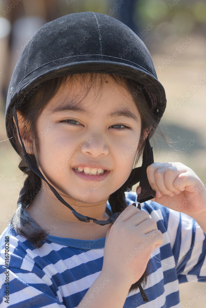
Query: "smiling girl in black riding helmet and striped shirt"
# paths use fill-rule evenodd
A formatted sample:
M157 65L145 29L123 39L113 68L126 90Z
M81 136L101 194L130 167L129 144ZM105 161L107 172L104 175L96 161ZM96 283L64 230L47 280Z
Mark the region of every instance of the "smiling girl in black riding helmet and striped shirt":
M28 176L1 235L1 307L180 307L179 282L206 282L205 187L149 144L165 107L149 51L115 18L35 34L6 103Z

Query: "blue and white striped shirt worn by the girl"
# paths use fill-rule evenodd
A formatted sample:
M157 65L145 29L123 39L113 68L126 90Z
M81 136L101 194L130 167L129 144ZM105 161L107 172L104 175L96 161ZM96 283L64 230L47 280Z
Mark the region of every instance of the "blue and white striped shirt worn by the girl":
M137 203L136 193L125 192L125 197L128 205ZM107 208L111 212L108 201ZM193 218L151 200L142 210L157 222L163 243L150 256L144 288L149 302L143 302L138 289L127 295L123 308L180 308L179 283L206 282L206 235ZM105 237L49 235L36 249L9 225L0 237L0 307L77 307L102 270L104 245ZM99 291L101 285L93 294Z

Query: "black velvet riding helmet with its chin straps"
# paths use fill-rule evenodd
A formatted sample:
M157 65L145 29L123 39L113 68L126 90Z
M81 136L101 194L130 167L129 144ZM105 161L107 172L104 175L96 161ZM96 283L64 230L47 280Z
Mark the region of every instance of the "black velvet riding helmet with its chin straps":
M81 43L79 43L81 42ZM93 220L96 224L113 223L120 212L113 213L107 221L77 213L44 178L37 165L26 152L19 132L16 110L20 107L17 99L32 88L48 79L58 76L97 72L124 76L141 83L145 99L148 101L157 125L166 108L165 90L158 81L151 55L128 26L105 14L94 12L73 13L62 16L42 26L29 41L15 66L6 99L6 132L15 151L19 154L8 131L8 115L13 114L23 148L23 160L19 168L30 168L53 191L59 201L72 210L83 222ZM26 103L23 101L22 103ZM149 185L146 168L154 162L152 147L146 138L142 166L132 169L128 180L122 185L122 193L130 191L140 181L142 193L137 201L145 202L155 197ZM115 193L113 193L115 197ZM110 201L110 199L109 199ZM18 206L25 206L19 203ZM140 292L148 301L141 284Z

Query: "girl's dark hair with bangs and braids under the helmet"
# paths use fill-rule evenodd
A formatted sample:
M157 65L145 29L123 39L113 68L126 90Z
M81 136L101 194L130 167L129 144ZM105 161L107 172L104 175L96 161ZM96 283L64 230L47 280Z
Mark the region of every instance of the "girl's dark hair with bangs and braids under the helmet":
M152 137L154 133L160 134L166 141L166 144L169 144L162 129L158 126L158 119L153 114L151 103L149 102L148 97L145 95L141 83L119 75L102 73L82 73L74 75L64 75L49 79L41 83L40 86L37 87L37 89L35 89L34 91L30 90L30 93L33 93L32 95L21 95L15 102L18 106L18 110L21 111L21 114L23 115L24 119L23 135L25 138L29 136L34 142L34 153L39 153L40 150L38 142L39 138L36 132L36 122L41 112L44 110L48 102L53 98L53 96L57 93L61 86L65 86L66 82L68 81L75 82L75 80L80 80L80 78L82 78L82 80L84 81L84 78L87 76L87 74L90 75L90 80L85 88L85 95L88 94L90 88L92 87L93 83L95 83L97 78L101 77L102 85L103 77L105 79L105 76L108 75L114 80L117 85L123 86L131 94L132 99L134 100L141 116L141 136L137 148L135 166L141 158L145 146L145 139L147 136L148 129L150 130L150 137ZM9 135L13 136L13 145L17 149L18 154L21 156L21 158L23 158L23 149L18 140L18 133L13 120L12 112L10 112L8 115L8 131ZM154 143L156 145L155 139ZM29 156L36 163L36 156L34 154L29 154ZM27 206L36 197L39 190L41 189L41 179L32 170L29 170L28 168L24 169L24 173L27 174L27 178L25 179L23 188L19 193L18 203L21 202L23 205ZM120 197L116 198L116 200L112 199L112 194L108 199L109 203L110 201L112 201L110 204L112 213L122 212L127 207L125 197L121 193L119 195ZM49 230L40 226L31 217L25 206L18 207L9 222L12 228L15 229L16 233L31 241L35 248L40 248L43 244L42 241L46 239L47 235L49 234ZM139 282L142 283L143 286L146 285L149 272L150 262L148 262L145 273L139 280ZM129 293L137 289L138 285L137 283L135 283L130 287Z

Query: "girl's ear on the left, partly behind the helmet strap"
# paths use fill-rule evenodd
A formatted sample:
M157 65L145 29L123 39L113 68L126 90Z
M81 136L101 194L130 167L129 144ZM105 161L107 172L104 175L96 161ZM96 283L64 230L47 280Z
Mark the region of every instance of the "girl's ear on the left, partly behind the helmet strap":
M18 119L18 124L19 124L19 132L20 132L23 144L25 146L25 149L26 149L28 154L33 154L33 152L32 152L32 140L31 140L30 136L26 136L26 133L24 132L25 117L23 116L23 114L20 110L17 110L16 114L17 114L17 119ZM14 116L13 116L13 121L14 121L16 130L17 130L17 126L16 126ZM17 130L18 140L19 140L19 143L21 144L21 140L19 138L19 132Z

